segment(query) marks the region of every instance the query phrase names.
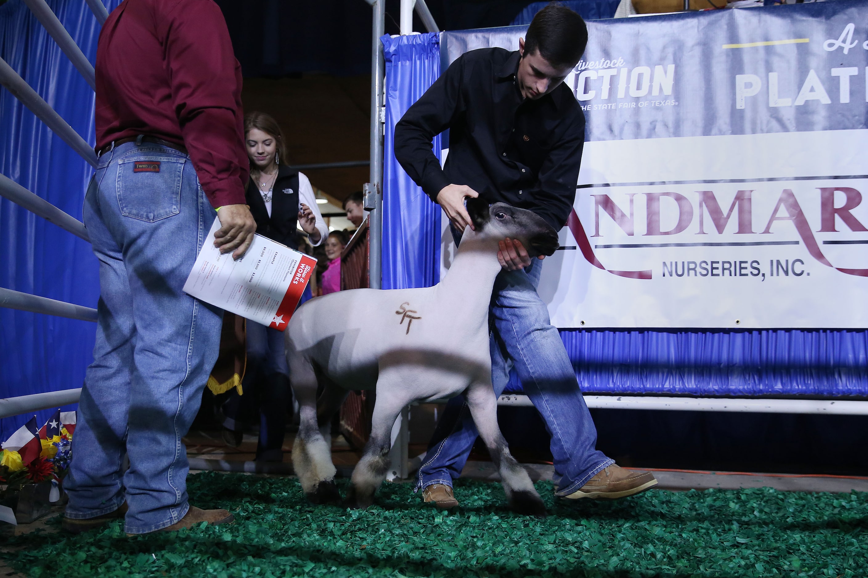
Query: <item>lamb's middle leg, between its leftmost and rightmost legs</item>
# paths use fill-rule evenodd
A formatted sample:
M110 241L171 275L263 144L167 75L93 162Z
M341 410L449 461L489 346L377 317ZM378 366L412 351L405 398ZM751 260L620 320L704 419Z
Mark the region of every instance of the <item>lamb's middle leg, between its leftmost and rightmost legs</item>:
M397 399L395 389L384 388L381 373L377 382L377 403L371 419L371 437L365 444L365 453L352 471L352 485L346 492L346 505L365 509L374 502L374 493L389 471L391 426L406 405L403 397ZM397 391L400 391L399 389Z

